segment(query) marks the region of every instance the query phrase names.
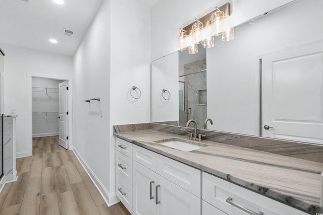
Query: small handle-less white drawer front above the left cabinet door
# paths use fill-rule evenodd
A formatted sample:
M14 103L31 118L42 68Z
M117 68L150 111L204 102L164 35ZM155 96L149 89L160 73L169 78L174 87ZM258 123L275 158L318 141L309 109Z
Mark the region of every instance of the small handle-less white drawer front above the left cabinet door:
M155 152L133 145L132 159L148 169L157 172L157 154Z

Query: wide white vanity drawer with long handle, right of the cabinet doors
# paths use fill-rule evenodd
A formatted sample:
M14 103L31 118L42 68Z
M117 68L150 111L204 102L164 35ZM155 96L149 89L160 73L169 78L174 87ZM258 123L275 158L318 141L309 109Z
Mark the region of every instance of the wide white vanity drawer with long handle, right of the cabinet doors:
M202 199L230 215L250 214L239 209L239 206L254 211L255 214L260 211L264 215L306 214L208 173L203 172L202 177Z

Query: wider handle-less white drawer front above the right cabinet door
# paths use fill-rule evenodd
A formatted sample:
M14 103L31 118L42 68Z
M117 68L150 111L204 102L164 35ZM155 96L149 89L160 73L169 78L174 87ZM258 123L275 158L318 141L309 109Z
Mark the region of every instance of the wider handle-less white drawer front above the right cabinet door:
M157 155L157 173L197 197L201 197L201 171L163 155Z

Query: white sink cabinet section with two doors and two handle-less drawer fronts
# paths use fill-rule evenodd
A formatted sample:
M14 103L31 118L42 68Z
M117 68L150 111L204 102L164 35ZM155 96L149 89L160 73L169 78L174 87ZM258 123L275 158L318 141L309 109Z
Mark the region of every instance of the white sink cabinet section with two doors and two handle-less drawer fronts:
M198 190L200 195L200 170L133 145L132 176L133 214L201 214L201 198L182 188ZM191 178L196 183L190 184Z

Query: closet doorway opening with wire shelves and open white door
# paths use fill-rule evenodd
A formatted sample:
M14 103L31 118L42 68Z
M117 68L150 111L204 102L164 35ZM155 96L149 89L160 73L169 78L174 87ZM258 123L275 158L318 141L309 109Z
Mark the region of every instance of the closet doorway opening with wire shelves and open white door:
M68 82L32 78L32 137L57 136L59 145L68 149Z

